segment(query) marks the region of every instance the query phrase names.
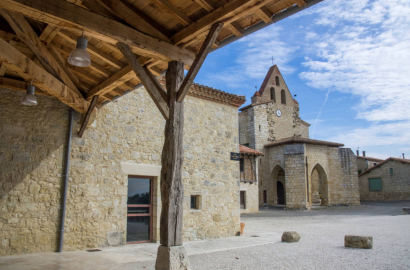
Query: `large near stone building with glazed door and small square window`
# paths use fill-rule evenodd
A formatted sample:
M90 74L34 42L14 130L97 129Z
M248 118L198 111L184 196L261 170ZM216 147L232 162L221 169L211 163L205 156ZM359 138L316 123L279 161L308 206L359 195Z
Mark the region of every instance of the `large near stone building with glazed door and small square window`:
M58 245L69 107L0 89L0 255ZM238 107L243 96L194 84L184 101L184 219L187 240L239 230ZM158 241L165 120L141 87L99 108L79 138L74 114L64 250Z

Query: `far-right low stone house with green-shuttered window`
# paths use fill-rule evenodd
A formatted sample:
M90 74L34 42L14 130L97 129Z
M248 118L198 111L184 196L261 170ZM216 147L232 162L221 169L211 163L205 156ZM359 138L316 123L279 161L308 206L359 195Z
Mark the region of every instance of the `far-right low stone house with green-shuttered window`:
M410 200L410 159L390 157L359 174L361 201Z

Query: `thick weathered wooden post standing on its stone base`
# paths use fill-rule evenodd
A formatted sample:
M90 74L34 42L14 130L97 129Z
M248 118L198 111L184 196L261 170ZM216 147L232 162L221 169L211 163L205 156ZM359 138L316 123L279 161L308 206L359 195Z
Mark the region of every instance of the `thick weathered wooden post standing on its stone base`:
M184 104L177 101L183 79L184 64L177 61L169 62L166 74L169 119L166 120L162 150L161 245L158 248L156 270L189 269L188 256L182 246Z

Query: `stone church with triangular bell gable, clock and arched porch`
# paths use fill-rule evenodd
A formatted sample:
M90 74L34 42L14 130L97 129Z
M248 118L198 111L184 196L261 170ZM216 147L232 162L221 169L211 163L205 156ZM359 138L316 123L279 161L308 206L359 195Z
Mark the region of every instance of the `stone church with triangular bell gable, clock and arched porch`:
M239 143L263 153L257 167L259 206L360 205L353 151L310 139L309 126L279 68L272 66L252 103L239 113Z

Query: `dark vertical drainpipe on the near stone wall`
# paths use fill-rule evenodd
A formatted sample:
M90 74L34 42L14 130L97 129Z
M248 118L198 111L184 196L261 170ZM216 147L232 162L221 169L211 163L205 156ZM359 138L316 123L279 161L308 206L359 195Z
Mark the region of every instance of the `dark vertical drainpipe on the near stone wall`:
M74 111L70 109L70 116L68 118L69 121L69 129L68 129L68 138L67 138L67 149L66 149L66 156L65 156L65 171L64 171L64 192L63 192L63 207L61 208L61 227L60 227L60 244L58 246L58 252L63 251L63 242L64 242L64 222L65 222L65 208L66 208L66 201L67 201L67 185L68 185L68 174L70 169L70 154L71 154L71 136L73 131L73 113Z

